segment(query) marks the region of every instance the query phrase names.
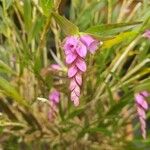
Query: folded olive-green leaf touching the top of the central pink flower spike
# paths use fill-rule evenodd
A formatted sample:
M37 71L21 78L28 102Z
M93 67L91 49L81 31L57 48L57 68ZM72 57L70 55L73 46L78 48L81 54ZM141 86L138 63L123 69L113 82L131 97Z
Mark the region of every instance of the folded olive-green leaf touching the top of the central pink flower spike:
M78 27L68 19L54 12L52 15L66 35L74 35L79 33Z

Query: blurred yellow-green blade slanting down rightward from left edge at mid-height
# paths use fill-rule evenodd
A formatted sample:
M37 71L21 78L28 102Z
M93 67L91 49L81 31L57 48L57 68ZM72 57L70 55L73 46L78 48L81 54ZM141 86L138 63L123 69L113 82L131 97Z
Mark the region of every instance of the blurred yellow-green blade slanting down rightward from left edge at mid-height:
M11 97L17 103L29 106L28 103L21 97L17 90L4 78L0 77L0 89L4 91L4 94Z

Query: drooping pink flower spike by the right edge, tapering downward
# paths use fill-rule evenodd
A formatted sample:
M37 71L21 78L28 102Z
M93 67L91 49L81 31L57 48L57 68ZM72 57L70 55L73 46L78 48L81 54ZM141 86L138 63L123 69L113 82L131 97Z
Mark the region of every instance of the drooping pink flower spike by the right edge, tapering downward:
M146 138L146 110L148 110L148 103L146 98L149 97L150 94L146 91L139 92L135 94L135 101L137 106L137 113L139 116L140 124L141 124L141 131L142 136Z

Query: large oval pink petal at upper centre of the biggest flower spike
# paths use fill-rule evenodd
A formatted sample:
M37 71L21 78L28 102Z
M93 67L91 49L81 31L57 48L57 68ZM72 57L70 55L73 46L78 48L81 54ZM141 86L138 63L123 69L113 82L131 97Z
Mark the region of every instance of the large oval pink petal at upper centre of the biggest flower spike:
M80 57L85 57L87 54L87 48L84 44L79 43L78 47L76 48L76 52Z

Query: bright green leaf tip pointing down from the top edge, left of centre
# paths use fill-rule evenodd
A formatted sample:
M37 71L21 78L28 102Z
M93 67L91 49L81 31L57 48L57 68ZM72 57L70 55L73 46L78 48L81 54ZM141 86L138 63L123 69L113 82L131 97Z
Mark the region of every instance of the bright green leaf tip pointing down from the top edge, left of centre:
M49 16L54 6L53 0L41 0L41 7L45 16Z

